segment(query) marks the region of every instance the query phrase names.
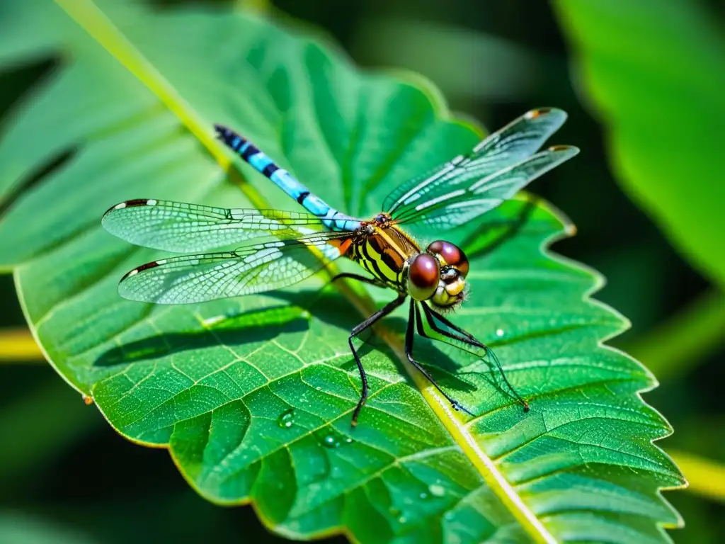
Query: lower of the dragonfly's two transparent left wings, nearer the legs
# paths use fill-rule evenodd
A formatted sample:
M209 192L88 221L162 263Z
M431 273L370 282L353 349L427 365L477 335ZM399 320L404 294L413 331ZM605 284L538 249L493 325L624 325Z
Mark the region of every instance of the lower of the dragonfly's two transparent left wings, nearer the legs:
M346 239L349 234L320 232L297 240L250 244L233 252L156 260L123 276L118 292L139 302L187 304L281 289L339 257Z

